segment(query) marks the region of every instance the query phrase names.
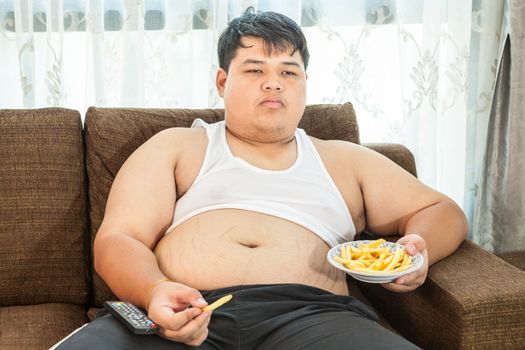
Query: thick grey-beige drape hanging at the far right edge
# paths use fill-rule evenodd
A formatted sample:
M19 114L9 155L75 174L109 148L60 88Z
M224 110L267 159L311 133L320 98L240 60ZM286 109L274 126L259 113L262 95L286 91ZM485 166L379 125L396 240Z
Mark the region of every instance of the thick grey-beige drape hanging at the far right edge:
M525 2L508 1L505 14L473 230L495 253L525 252Z

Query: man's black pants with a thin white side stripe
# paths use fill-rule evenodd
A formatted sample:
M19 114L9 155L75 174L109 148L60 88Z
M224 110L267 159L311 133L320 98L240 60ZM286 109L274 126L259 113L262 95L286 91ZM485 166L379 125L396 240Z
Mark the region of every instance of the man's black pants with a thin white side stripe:
M377 323L353 297L300 284L253 285L202 292L215 310L199 349L418 349ZM58 349L193 349L156 335L134 335L111 315L95 319Z

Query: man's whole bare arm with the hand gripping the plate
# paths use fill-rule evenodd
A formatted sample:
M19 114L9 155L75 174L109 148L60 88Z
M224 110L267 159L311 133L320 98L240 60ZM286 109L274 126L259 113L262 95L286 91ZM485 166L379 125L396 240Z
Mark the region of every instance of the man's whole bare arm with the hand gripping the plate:
M395 283L384 285L409 291L421 285L428 266L452 254L467 235L462 210L447 196L421 183L381 154L354 144L332 142L334 153L345 159L339 172L355 179L361 194L366 229L378 235L397 235L409 254L420 252L424 266ZM356 194L348 202L356 201Z

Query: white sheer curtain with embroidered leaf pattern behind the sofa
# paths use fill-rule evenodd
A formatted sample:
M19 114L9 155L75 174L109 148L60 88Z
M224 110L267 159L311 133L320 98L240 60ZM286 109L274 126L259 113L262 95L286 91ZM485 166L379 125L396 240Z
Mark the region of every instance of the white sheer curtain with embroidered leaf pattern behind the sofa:
M353 102L363 142L408 146L471 216L502 2L0 0L0 108L220 107L220 32L273 10L309 41L307 102Z

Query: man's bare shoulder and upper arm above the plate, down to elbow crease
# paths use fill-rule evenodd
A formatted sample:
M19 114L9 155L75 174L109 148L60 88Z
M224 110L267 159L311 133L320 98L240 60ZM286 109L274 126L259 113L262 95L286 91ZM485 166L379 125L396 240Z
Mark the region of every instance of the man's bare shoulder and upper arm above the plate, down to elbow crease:
M327 167L335 164L339 181L351 179L359 186L372 232L400 232L406 218L446 196L426 186L382 154L345 141L312 139Z

